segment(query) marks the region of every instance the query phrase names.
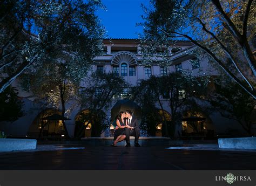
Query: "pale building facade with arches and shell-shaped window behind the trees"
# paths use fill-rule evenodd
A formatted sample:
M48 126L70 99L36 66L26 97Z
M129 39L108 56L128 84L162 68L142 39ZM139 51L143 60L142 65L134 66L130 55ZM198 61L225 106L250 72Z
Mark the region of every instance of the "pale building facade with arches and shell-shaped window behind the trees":
M92 66L92 71L98 73L114 73L116 75L122 76L125 81L135 86L140 79L148 79L151 75L159 76L166 75L171 72L176 72L180 70L191 71L192 74L197 74L199 67L205 73L210 75L218 75L209 64L206 58L202 58L197 66L193 66L190 63L191 57L186 54L186 51L193 49L194 45L190 42L180 41L177 42L176 47L178 50L170 51L172 58L172 65L169 67L159 66L158 63L152 64L151 66L139 65L142 61L142 54L140 53L139 40L137 39L108 39L104 40L104 51L102 56L97 56L95 58L95 63ZM90 73L89 73L90 75ZM14 82L12 86L18 87L17 82ZM84 87L81 83L81 87ZM214 85L210 85L214 88ZM104 111L110 121L113 121L114 116L122 108L129 108L133 111L133 114L140 119L139 106L125 99L125 95L128 88L124 88L123 94L118 97L113 97L112 105L107 110ZM17 121L9 123L2 122L0 125L0 130L4 131L9 136L28 136L36 137L38 134L41 136L59 136L63 134L63 126L61 121L42 121L42 118L52 114L59 114L59 110L48 108L46 111L42 111L39 103L35 102L33 95L27 92L19 91L19 96L24 101L24 111L25 116L19 118ZM169 101L164 98L160 98L163 104L165 114L167 118L171 120L171 112L169 107ZM72 103L66 105L67 108L71 107ZM156 105L159 109L160 106ZM120 108L120 109L118 109ZM68 133L72 137L76 130L76 120L79 113L86 112L81 111L79 107L72 109L72 112L68 116L69 120L66 121L66 126L68 128ZM206 118L202 124L203 132L207 133L210 131L212 135L225 135L228 132L233 131L234 135L245 133L242 132L242 127L234 120L229 120L223 118L220 113L212 113L211 115L205 115L202 111L198 113L197 116L203 116ZM140 120L139 120L140 121ZM199 123L200 125L200 123ZM90 125L84 131L84 137L90 136ZM110 136L113 128L102 133L102 136ZM186 133L193 132L193 128L187 125L186 122L181 123L181 125L176 127L175 135L182 136ZM161 136L161 125L157 126L156 136Z

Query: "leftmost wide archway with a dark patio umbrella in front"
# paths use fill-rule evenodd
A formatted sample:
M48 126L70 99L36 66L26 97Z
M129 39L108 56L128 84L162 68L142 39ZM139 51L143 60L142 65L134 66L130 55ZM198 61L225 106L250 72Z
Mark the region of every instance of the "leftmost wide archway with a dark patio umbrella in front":
M30 125L28 137L60 137L65 134L62 121L43 120L53 114L61 114L56 109L45 109L39 113Z

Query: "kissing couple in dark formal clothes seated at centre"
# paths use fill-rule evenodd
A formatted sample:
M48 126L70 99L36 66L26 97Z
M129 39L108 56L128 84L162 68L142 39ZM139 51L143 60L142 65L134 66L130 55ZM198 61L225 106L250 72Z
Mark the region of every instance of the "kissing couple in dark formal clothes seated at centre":
M113 147L117 146L117 142L126 140L125 147L131 147L130 136L135 137L134 146L140 147L139 144L139 123L132 112L127 110L126 112L119 112L116 120L117 126L114 130L114 142Z

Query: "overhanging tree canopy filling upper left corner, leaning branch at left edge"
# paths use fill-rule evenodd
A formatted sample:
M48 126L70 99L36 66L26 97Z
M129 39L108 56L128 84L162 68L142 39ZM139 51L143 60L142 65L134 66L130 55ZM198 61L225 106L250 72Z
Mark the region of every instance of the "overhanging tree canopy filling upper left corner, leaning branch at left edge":
M105 32L95 15L102 7L93 0L1 2L0 70L6 74L1 77L0 92L24 71L43 67L42 61L60 63L57 58L63 54L70 57L71 72L87 67L102 47ZM83 75L73 74L78 79Z

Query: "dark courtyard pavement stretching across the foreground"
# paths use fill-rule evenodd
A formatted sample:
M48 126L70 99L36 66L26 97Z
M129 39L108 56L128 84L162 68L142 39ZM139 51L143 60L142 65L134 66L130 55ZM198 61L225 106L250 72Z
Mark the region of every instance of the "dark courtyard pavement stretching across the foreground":
M256 150L218 144L151 147L40 144L35 150L0 153L1 170L255 170Z

